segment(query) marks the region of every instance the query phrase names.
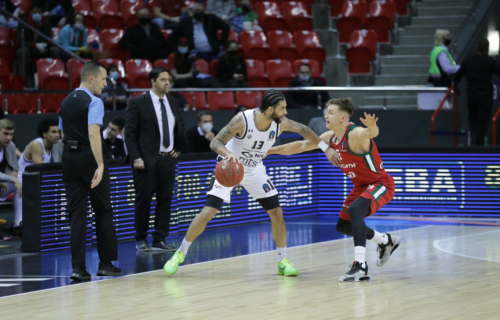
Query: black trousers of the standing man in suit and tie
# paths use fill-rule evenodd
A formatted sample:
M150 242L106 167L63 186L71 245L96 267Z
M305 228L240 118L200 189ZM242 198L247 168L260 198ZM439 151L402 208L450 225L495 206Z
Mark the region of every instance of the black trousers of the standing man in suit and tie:
M159 156L153 168L133 168L135 185L135 238L146 240L151 201L156 192L154 241L164 241L170 228L170 204L175 183L177 159L170 154Z

